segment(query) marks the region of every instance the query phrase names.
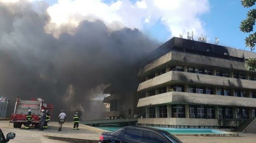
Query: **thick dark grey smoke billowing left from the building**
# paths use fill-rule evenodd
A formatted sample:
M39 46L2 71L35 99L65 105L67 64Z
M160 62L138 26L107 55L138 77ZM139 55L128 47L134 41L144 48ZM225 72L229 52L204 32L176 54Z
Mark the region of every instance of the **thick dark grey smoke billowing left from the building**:
M69 109L63 97L70 85L73 104L95 97L91 91L109 83L125 91L135 81L133 66L159 45L137 29L111 31L100 20L82 21L74 34L55 38L44 29L50 21L47 7L44 2L0 2L0 94L11 99L8 113L17 95L44 97L57 112Z

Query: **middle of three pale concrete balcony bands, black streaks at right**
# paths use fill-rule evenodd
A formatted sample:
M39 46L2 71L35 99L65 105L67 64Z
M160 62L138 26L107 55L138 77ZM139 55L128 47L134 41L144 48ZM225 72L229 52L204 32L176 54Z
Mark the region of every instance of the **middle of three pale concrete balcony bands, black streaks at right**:
M139 84L137 91L156 88L170 83L193 83L212 86L229 86L230 88L255 89L256 81L235 79L230 77L212 76L206 74L170 71Z

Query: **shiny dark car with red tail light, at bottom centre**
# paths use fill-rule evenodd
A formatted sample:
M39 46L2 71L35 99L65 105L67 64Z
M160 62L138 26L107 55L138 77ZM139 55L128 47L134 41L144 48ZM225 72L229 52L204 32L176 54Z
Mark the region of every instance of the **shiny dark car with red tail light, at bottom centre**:
M157 128L127 126L102 133L99 143L182 143L172 134Z

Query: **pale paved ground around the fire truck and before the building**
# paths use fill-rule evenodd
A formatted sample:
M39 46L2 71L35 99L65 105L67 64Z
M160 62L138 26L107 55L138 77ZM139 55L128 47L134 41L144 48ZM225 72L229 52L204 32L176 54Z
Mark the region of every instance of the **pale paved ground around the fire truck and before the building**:
M0 128L6 135L9 132L16 133L16 137L10 143L64 143L63 141L46 139L43 135L55 137L67 137L74 139L98 140L104 131L87 125L79 125L80 130L73 130L72 122L65 122L62 131L58 132L58 122L50 122L49 129L39 131L31 128L13 128L8 121L0 121ZM256 143L256 134L239 134L239 137L190 137L177 136L184 143Z

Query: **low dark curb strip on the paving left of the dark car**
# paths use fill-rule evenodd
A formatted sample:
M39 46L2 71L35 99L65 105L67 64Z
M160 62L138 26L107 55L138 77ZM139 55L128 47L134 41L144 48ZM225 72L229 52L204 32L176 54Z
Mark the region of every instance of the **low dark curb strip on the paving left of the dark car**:
M86 139L74 139L74 138L67 138L67 137L55 137L55 136L48 136L48 135L43 135L47 139L52 139L52 140L61 140L64 142L69 142L69 143L98 143L98 140L86 140Z

